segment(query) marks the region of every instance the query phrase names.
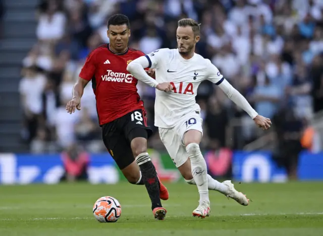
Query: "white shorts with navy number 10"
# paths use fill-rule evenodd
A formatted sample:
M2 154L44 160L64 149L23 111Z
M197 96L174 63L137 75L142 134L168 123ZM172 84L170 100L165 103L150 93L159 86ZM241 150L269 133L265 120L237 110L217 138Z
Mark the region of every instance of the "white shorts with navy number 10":
M175 166L179 168L188 159L183 137L186 131L195 129L202 133L203 119L199 114L193 112L183 116L178 124L172 128L158 128L159 137L164 143Z

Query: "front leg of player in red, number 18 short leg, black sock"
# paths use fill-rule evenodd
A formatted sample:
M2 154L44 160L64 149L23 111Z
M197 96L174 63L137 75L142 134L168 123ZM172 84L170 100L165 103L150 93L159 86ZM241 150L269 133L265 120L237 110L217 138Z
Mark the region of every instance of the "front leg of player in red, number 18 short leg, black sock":
M147 152L147 139L151 135L151 129L146 125L143 110L136 110L128 114L128 122L124 128L125 136L128 138L135 161L140 168L143 182L151 200L151 208L156 219L164 219L166 209L160 202L161 189L168 191L157 177L156 169L151 162Z

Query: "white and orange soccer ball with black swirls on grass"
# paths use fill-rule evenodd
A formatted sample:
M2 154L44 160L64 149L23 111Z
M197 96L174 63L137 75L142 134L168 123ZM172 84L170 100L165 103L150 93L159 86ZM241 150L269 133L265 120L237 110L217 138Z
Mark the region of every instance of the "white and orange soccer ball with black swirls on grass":
M99 222L116 222L121 215L121 205L113 197L100 197L94 203L93 215Z

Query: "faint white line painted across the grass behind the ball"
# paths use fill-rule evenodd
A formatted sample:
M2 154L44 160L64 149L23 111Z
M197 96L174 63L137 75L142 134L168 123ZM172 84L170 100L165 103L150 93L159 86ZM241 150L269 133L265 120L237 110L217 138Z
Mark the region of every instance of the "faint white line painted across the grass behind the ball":
M266 215L323 215L323 212L296 212L296 213L273 213L273 214L261 214L261 213L248 213L248 214L239 214L239 215L214 215L216 217L221 216L266 216ZM171 215L170 218L185 217L183 215ZM78 219L94 219L94 217L46 217L46 218L0 218L0 221L37 221L37 220L78 220Z

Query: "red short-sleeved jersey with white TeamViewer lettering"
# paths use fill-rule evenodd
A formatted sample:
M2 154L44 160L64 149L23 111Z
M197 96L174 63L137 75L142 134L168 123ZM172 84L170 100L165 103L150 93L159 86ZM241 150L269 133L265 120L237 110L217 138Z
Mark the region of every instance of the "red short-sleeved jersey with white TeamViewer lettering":
M144 109L137 93L138 80L127 71L127 65L132 60L144 55L142 51L132 48L115 53L109 44L95 48L88 55L79 76L92 81L100 125L131 111Z

